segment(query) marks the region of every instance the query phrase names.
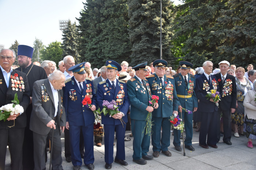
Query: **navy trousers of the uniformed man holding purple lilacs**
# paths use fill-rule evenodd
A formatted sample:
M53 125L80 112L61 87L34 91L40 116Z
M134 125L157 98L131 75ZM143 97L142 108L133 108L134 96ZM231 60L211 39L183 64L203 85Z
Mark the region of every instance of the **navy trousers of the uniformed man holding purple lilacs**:
M124 134L126 129L126 124L124 127L122 124L104 124L104 144L105 144L105 162L110 164L113 163L113 154L114 154L114 133L116 129L116 158L125 160L125 149L124 149Z

